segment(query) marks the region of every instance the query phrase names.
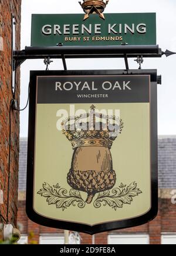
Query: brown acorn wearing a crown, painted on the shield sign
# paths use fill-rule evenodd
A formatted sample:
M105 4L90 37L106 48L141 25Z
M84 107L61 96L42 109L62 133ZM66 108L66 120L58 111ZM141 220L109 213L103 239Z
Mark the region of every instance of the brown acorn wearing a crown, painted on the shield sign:
M110 148L122 128L119 117L100 114L94 105L89 113L62 122L62 132L74 150L67 183L73 189L87 192L87 204L97 192L111 189L116 183Z

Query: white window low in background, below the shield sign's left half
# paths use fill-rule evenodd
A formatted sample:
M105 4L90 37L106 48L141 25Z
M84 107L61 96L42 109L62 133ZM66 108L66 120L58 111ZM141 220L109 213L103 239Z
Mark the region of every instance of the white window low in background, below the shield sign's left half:
M42 234L40 235L39 244L64 244L64 235Z

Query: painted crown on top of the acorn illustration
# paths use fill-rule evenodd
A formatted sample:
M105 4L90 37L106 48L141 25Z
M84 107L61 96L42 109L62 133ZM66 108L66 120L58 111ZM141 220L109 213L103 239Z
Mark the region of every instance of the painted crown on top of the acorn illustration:
M90 109L90 113L65 119L62 122L62 132L72 142L73 149L83 146L102 146L110 149L122 131L123 122L115 115L95 112L94 105ZM97 122L96 118L99 119ZM116 124L113 125L112 122Z

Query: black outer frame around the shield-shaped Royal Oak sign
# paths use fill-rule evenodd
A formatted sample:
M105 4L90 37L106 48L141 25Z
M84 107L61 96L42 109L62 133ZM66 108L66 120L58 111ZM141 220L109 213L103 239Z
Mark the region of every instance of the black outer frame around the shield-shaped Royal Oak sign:
M33 171L35 157L35 111L36 111L36 81L38 76L72 76L72 75L150 75L150 104L151 109L151 209L140 217L129 220L106 222L89 226L74 222L52 220L38 215L33 209ZM158 152L157 152L157 70L156 69L131 69L131 70L89 70L89 71L31 71L29 94L29 130L28 130L28 166L26 188L26 213L33 222L53 228L74 230L90 235L129 228L145 224L153 220L158 212Z

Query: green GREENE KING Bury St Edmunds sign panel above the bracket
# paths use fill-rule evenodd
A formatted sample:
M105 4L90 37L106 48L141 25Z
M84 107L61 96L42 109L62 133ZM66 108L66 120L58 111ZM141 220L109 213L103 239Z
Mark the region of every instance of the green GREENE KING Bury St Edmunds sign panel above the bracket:
M31 46L155 45L154 13L90 15L33 14Z

